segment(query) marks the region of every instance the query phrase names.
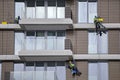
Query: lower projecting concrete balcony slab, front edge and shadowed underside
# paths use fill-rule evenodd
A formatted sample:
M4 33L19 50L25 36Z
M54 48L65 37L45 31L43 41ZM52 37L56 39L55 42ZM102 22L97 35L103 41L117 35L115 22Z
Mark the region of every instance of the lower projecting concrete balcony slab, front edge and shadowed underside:
M71 50L26 50L20 51L19 57L24 61L66 61L72 58Z

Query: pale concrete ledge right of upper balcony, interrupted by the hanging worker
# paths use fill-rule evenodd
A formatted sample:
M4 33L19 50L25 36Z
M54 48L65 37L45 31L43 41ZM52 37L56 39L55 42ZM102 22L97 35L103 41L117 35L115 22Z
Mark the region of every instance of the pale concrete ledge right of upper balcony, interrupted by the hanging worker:
M107 29L120 29L120 23L103 23ZM91 24L73 24L74 29L95 29L95 25Z

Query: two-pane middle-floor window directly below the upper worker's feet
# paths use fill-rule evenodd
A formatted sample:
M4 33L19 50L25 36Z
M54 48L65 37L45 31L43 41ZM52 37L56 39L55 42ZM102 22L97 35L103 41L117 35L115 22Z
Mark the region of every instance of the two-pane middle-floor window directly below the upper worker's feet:
M96 35L96 32L88 33L88 53L89 54L107 54L108 53L108 33L102 36Z

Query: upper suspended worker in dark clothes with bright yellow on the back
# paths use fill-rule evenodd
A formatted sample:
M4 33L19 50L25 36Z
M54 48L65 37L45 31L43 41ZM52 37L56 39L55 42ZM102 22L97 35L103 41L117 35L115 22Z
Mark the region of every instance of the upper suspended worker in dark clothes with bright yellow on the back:
M103 18L95 16L94 24L96 27L96 33L97 35L100 34L100 36L102 36L102 33L106 34L106 28L105 26L102 25L102 22L103 22Z

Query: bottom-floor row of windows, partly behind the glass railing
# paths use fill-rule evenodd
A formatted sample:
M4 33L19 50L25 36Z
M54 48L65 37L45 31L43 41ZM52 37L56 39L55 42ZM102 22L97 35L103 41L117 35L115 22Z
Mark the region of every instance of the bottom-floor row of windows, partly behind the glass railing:
M34 72L35 71L35 72ZM62 74L61 74L62 73ZM66 80L65 62L37 61L14 63L14 72L10 74L11 80Z

